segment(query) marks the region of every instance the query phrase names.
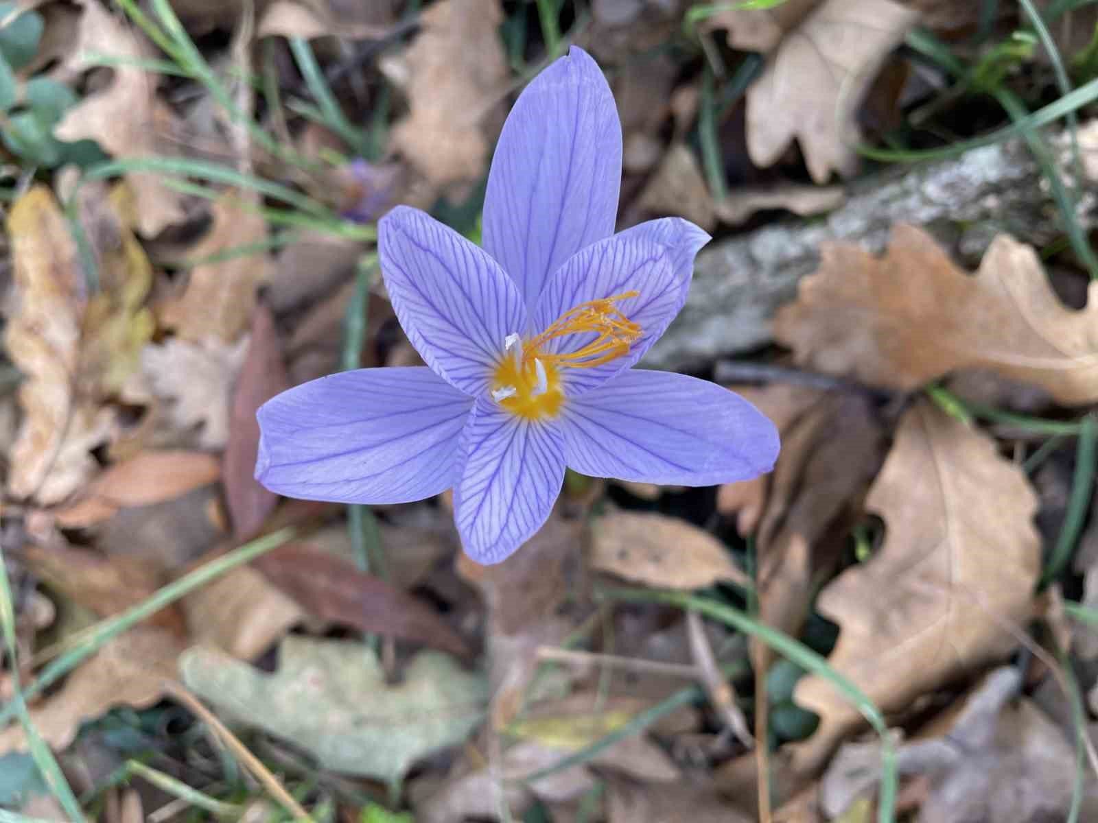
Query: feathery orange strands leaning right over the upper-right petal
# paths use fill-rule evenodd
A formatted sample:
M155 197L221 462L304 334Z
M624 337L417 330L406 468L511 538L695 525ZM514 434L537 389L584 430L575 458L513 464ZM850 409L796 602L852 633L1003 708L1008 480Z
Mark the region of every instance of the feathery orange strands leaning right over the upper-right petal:
M610 297L581 303L553 320L545 331L523 346L523 361L535 358L546 365L561 369L591 369L616 360L629 351L629 347L640 339L639 324L626 317L615 303L637 297L640 292L623 292ZM540 352L542 346L567 335L595 334L594 340L576 351L560 354Z

